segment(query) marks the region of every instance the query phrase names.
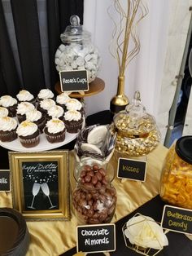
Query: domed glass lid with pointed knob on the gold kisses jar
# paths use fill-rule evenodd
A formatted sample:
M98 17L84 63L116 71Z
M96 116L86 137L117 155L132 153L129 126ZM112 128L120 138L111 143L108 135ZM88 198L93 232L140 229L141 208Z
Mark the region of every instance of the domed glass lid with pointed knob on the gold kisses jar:
M146 113L146 108L141 104L139 91L135 92L132 104L117 113L113 120L117 130L129 135L145 135L156 127L155 118Z

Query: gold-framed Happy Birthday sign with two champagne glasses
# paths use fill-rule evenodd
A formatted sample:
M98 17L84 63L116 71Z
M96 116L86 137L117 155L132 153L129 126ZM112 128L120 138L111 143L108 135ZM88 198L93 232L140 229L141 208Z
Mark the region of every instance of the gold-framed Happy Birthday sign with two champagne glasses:
M26 220L68 220L68 151L9 152L13 208Z

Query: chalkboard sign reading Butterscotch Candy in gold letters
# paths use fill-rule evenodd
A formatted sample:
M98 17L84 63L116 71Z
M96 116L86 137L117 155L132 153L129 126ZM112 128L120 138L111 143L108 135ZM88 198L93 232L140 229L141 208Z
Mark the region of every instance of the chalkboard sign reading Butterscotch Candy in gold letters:
M173 232L192 234L192 210L164 205L161 226Z

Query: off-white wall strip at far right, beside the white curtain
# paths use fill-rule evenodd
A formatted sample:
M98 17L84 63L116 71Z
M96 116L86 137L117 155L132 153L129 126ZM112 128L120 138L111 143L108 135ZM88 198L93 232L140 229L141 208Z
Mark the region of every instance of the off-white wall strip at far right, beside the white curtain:
M180 74L181 61L191 19L189 8L192 6L192 0L169 0L169 2L171 7L168 22L168 46L161 79L160 104L157 116L157 124L161 130L162 141L168 130L168 111L171 108L177 88L175 77Z

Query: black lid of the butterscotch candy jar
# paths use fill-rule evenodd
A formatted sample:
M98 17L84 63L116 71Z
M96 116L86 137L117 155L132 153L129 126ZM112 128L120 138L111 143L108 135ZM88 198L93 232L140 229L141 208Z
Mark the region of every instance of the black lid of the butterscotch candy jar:
M183 136L177 139L175 150L182 160L192 164L192 136Z

